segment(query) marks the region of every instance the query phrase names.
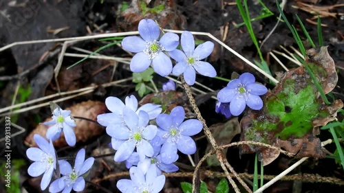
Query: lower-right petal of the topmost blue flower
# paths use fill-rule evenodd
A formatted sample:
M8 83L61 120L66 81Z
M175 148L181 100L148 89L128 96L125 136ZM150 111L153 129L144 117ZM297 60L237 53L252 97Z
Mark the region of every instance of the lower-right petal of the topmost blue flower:
M158 56L153 58L153 69L160 76L168 76L172 71L172 62L169 56L164 52L159 52Z

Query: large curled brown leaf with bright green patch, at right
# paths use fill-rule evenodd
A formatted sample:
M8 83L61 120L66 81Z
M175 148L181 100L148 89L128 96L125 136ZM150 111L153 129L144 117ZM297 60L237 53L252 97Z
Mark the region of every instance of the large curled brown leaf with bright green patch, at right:
M308 50L306 63L325 93L332 91L338 77L327 47ZM335 119L336 112L343 107L341 100L326 105L303 66L288 71L263 100L263 109L249 110L242 118L241 141L259 141L284 148L296 157L325 157L321 141L315 135L319 135L319 126ZM264 166L279 156L277 150L241 146L241 154L252 152L258 153Z

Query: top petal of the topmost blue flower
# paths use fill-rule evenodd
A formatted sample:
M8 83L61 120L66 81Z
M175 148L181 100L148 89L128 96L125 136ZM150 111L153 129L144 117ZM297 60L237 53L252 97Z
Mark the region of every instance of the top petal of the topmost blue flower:
M144 41L155 41L160 36L160 29L152 19L142 19L138 23L138 32Z

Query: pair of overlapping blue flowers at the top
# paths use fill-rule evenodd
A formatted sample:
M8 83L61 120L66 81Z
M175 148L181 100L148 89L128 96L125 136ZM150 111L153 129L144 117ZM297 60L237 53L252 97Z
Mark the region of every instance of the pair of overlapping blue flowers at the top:
M214 44L210 41L195 48L195 39L191 32L182 33L181 45L183 51L176 49L179 45L179 36L171 32L164 34L160 40L160 28L152 19L142 19L138 24L138 36L129 36L123 39L122 47L129 52L136 53L131 59L130 69L133 72L142 72L150 65L160 76L168 76L171 72L176 76L184 74L185 82L195 84L196 71L203 76L215 77L214 67L201 61L213 52ZM172 67L171 58L177 61Z

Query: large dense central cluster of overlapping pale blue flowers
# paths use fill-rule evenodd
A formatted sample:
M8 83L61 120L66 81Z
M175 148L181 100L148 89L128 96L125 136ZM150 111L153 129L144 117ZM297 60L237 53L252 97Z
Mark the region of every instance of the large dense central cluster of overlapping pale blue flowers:
M105 104L111 113L98 115L98 122L107 127L111 136L111 146L116 150L114 161L125 161L131 174L131 180L118 181L118 189L159 192L164 181L162 171L178 170L173 164L178 159L178 150L186 155L195 153L191 136L200 133L202 122L184 121L182 106L176 106L169 115L160 114L162 109L156 104L144 104L138 109L133 95L125 99L125 104L114 97L107 98ZM158 126L149 123L153 119Z

